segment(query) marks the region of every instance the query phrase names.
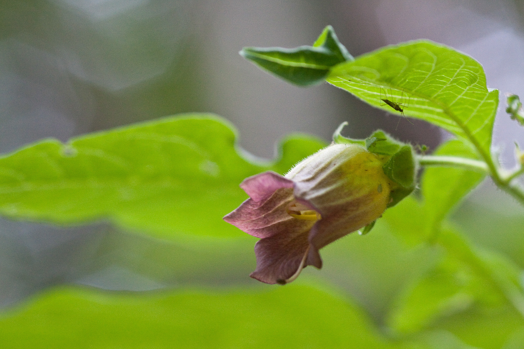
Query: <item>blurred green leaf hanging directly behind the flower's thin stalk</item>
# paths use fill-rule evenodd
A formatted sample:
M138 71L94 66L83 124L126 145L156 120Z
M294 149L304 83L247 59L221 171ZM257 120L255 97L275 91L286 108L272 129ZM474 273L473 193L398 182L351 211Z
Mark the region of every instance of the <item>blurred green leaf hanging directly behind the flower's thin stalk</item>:
M471 147L458 139L442 144L434 155L451 155L477 159ZM468 192L477 186L485 174L452 167L427 167L422 178L427 226L434 230Z

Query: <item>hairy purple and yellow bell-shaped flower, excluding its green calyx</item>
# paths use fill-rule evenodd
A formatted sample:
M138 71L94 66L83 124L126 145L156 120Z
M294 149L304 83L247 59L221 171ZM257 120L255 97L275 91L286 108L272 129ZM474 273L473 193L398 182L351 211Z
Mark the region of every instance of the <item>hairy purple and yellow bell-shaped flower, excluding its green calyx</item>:
M308 265L322 267L319 249L374 222L396 187L384 173L387 157L354 144L333 144L286 176L264 172L246 178L249 195L224 220L261 238L251 277L287 283Z

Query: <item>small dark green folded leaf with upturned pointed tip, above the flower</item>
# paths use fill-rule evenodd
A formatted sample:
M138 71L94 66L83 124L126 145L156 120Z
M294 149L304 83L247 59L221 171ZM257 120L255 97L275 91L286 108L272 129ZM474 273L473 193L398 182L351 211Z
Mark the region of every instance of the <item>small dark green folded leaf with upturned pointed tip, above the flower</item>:
M299 86L321 83L331 67L353 59L331 26L324 29L313 46L244 47L239 53L260 68Z

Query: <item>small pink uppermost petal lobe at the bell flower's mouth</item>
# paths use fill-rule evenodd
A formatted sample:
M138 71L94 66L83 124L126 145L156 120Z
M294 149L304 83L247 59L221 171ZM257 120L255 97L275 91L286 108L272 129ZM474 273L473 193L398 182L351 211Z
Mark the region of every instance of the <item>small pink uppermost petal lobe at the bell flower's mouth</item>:
M293 181L278 173L267 171L244 179L240 187L254 201L262 201L269 198L277 189L293 188Z

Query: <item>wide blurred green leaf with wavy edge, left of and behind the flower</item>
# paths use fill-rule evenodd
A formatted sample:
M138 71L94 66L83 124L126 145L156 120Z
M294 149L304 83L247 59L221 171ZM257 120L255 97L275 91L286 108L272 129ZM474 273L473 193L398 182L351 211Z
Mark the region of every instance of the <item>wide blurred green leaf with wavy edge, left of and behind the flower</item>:
M46 139L0 158L0 214L72 224L109 218L131 230L238 236L222 217L258 172L285 172L323 147L288 138L275 162L247 161L235 132L210 114L167 117L71 139ZM198 183L198 185L195 185Z

